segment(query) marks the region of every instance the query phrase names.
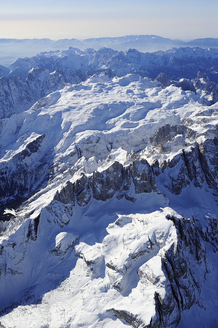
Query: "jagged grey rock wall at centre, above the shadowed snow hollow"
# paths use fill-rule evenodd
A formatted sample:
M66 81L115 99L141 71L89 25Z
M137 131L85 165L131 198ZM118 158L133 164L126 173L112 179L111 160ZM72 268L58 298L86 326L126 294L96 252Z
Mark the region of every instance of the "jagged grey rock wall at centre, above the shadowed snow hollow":
M114 162L105 171L93 172L91 178L87 178L83 172L76 182L67 181L61 191L56 192L54 200L74 206L76 197L78 205L83 207L91 199L90 188L94 199L106 201L117 192L125 194L130 190L132 182L136 194L158 192L153 170L149 163L142 159L133 161L125 169L119 162ZM124 194L121 195L124 196ZM123 197L118 196L118 198Z

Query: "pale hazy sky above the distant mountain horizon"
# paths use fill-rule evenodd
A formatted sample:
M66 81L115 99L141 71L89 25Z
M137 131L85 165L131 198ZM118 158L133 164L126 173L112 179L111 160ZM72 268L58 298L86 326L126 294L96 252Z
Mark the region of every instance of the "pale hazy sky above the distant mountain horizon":
M0 38L218 37L218 0L1 0Z

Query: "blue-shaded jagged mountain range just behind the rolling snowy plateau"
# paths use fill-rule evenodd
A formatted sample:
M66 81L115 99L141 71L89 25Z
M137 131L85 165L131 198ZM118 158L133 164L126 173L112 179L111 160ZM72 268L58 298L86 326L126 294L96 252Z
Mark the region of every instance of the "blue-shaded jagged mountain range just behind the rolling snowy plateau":
M69 48L66 51L43 52L31 58L18 59L11 67L10 76L26 78L32 68L44 67L51 71L63 69L69 73L81 70L91 75L106 72L110 77L130 73L154 79L161 72L171 79L194 78L198 71L207 72L209 79L218 83L218 49L173 48L168 51L143 53L135 49L126 52L101 48L98 51Z

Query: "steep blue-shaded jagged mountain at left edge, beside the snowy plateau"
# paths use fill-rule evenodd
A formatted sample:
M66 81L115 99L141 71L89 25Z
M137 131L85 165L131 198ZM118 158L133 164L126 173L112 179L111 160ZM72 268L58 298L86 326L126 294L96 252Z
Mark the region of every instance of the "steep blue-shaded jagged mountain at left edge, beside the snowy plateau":
M68 73L62 69L51 72L44 67L31 69L26 80L20 75L0 78L0 118L29 109L38 99L50 92L62 89L66 84L84 81L80 70Z

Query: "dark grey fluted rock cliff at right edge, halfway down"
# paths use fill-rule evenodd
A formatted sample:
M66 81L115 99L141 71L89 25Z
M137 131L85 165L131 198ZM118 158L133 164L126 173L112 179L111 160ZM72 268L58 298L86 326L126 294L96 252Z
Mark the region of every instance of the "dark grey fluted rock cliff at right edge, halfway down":
M168 162L165 160L160 166L155 161L152 167L156 176L165 175L165 186L175 195L179 195L192 181L194 186L199 188L202 188L206 182L208 187L217 194L217 156L217 138L206 139L200 145L182 149L179 154L176 154ZM167 175L171 180L171 186L168 185Z

